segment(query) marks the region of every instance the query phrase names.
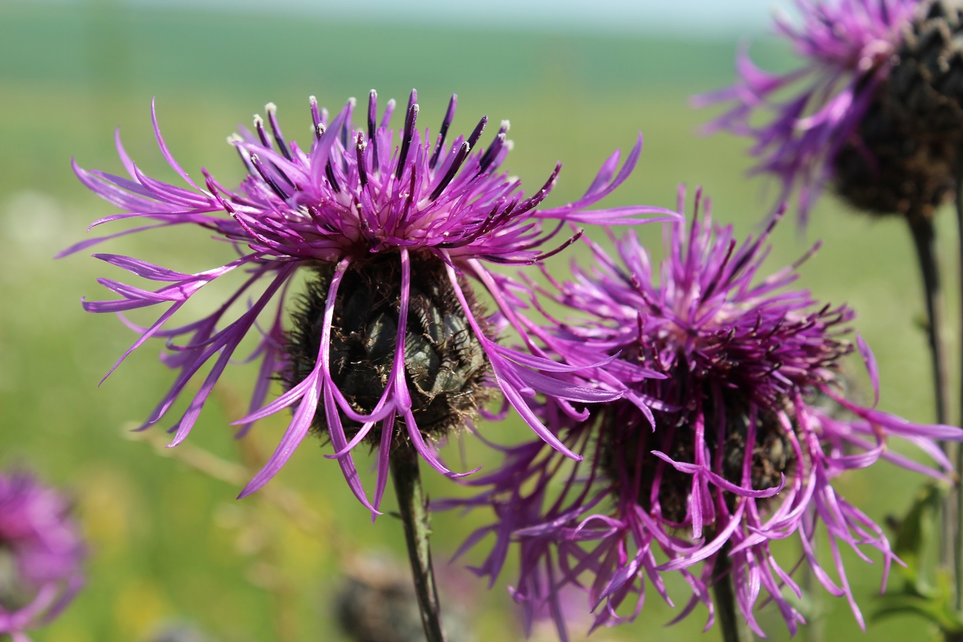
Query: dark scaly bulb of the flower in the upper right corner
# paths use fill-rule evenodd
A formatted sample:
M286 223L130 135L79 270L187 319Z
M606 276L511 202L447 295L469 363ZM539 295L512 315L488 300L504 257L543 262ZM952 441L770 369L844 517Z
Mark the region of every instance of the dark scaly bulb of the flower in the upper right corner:
M955 195L963 144L963 8L922 2L893 67L834 162L836 191L871 214L929 218Z

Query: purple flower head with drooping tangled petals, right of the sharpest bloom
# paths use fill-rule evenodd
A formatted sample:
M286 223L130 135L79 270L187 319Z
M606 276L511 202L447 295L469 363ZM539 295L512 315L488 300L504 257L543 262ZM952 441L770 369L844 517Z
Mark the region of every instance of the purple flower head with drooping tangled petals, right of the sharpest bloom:
M551 400L539 407L584 461L523 443L506 450L502 468L465 482L481 487L479 495L439 506L494 509L496 522L463 548L494 534L479 569L494 580L517 543L514 596L528 609L551 608L562 587L576 585L588 593L594 626L612 625L635 618L647 584L672 604L664 574L678 572L690 598L677 620L702 602L708 629L709 589L731 575L752 629L762 634L753 610L763 598L794 632L802 616L783 589L801 595L792 575L805 563L826 590L846 597L862 625L840 549L868 560L864 549L875 548L884 582L896 557L882 529L833 488L833 478L882 459L947 479L950 462L934 440L959 441L963 431L846 399L838 361L853 350L844 338L853 312L791 289L798 263L758 274L775 221L739 243L732 227L713 225L708 203L700 218L699 201L689 227L666 225L658 274L630 233L616 241L617 259L592 245L594 265L576 266L574 281L549 277L552 291L533 284L536 296L578 314L552 321L541 334L546 344L568 361L595 361L579 373L590 373L586 385L621 382L626 390L582 421ZM858 336L856 347L877 389L872 354ZM893 436L935 465L889 449ZM826 567L814 550L820 530L832 558ZM770 550L789 537L801 544L798 563L778 561ZM563 611L556 612L564 637Z

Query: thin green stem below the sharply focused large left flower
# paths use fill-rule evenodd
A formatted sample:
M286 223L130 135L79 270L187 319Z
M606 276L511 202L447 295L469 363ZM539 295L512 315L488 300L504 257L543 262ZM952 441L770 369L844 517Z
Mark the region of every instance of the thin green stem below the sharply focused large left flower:
M441 631L438 590L431 569L428 502L422 492L418 453L410 444L391 453L391 476L395 483L395 494L398 495L398 512L404 524L404 540L408 546L408 561L411 562L411 576L425 636L427 642L445 642L445 635Z

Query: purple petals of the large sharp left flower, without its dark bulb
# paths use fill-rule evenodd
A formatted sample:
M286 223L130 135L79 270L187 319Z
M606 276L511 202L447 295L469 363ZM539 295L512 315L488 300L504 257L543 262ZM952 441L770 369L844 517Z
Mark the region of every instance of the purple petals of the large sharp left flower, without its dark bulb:
M456 305L462 309L470 332L481 342L492 380L508 403L541 439L575 456L532 413L530 398L539 391L587 403L610 400L618 393L568 383L561 375L570 367L497 344L483 331L489 320L487 315L479 316L465 277L487 290L498 307L498 313L490 317L491 323L511 326L528 341L525 325L514 310L514 295L507 289L506 281L493 274L488 265L532 264L554 254L571 240L562 242L557 249L545 250L544 246L566 225L647 220L635 218L639 214L670 216L665 210L641 206L586 209L625 180L636 165L641 140L621 169L618 168L619 153L613 153L581 199L540 209L539 205L556 182L560 166L533 196L525 197L519 181L501 170L510 148L508 121L502 123L490 144L482 147L485 118L469 135L448 141L455 116L455 96L435 136L417 128L419 105L414 92L403 112L403 126L397 132L389 124L394 100L378 114L377 94L373 91L367 113L357 127L351 120L355 106L351 99L329 119L312 97L314 137L307 146L299 146L282 135L275 109L268 105L267 122L256 117L253 132L242 130L239 136L229 139L247 170L247 176L236 188L224 187L206 171L202 171L203 181L195 182L171 155L161 137L156 116L157 144L187 187L143 174L120 146L119 139L117 151L129 177L74 166L85 185L123 210L97 220L93 226L119 220L144 220L146 225L85 241L63 254L121 234L182 225L213 233L236 252L233 260L195 274L119 254L94 254L144 280L163 283L157 289L144 289L101 279L99 282L120 298L84 302L84 308L89 311L121 315L136 308L164 308L148 327L126 321L140 337L117 361L119 364L148 338L162 337L167 342L162 360L177 371L177 377L143 427L167 416L189 383L200 378L199 388L186 410L170 428L171 445L183 441L221 373L236 357L242 340L253 335L256 346L247 361L259 361L260 369L250 412L237 422L243 426L241 433L244 434L252 422L287 408L294 408L294 416L273 456L241 496L259 489L288 461L316 415L324 415L326 432L335 450L333 457L338 460L351 491L373 512L377 512L385 488L396 420L398 430L406 432L432 468L457 476L439 460L412 412L408 385L413 375L405 372L405 321L412 291L412 263L417 259L421 264L428 262L434 266L432 269L441 275L442 281L450 281ZM545 230L543 221L557 225ZM351 270L376 260L392 261L401 274L396 297L399 321L391 347L390 375L381 382L383 391L377 404L364 412L352 405L335 383L329 347L340 284ZM290 328L285 326L285 307L294 296L289 293L291 282L301 268L319 266L330 266L330 278L319 306L322 320L316 329L320 336L316 359L311 355L303 376L298 381L290 381L289 389L268 402L273 380L284 379L291 370L286 345ZM171 319L205 285L225 279L231 273L243 275L240 284L234 286L233 294L215 311L184 325L170 325ZM201 375L205 364L209 370ZM346 432L345 420L355 422L360 428L353 434ZM378 427L381 432L377 488L373 500L369 500L358 480L351 450Z

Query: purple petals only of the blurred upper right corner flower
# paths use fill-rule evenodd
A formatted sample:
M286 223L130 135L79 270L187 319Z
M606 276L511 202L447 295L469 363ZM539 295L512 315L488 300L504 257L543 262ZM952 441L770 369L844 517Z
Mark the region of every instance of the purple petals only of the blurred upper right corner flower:
M780 202L798 190L801 224L824 183L833 177L837 154L852 143L877 89L898 64L895 54L920 4L920 0L795 0L800 23L796 26L780 16L776 31L793 42L802 67L768 73L743 51L735 86L694 99L696 106L733 103L705 130L726 129L752 138L751 153L758 158L753 172L779 179Z

